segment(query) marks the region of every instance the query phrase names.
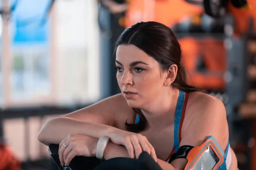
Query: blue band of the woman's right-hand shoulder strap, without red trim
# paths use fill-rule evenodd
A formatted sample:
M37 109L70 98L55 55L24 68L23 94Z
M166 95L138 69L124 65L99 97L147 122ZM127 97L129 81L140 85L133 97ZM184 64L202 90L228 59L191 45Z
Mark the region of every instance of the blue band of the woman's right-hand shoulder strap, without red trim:
M180 119L181 119L181 115L182 115L182 111L183 111L184 101L185 101L185 92L180 91L179 97L177 100L177 106L176 106L176 111L175 111L175 121L174 121L174 145L173 146L176 147L175 153L177 152L177 150L179 149L179 146L180 146L179 128L180 128Z

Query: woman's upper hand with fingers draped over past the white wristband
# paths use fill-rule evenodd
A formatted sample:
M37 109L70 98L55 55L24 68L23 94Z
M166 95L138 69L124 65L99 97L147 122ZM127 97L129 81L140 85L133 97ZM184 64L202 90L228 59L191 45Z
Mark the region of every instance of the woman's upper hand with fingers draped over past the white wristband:
M119 144L126 147L131 158L139 158L140 153L146 151L155 161L157 161L154 147L148 142L148 139L145 136L139 133L115 129L111 130L108 137L114 144Z

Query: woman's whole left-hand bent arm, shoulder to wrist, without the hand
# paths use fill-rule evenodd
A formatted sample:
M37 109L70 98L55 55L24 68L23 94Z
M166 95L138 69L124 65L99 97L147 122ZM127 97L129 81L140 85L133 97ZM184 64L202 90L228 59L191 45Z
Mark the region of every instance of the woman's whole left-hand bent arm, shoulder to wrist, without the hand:
M116 110L123 107L121 95L102 100L87 108L58 116L46 122L38 133L38 140L46 145L59 144L70 134L99 138L116 127Z

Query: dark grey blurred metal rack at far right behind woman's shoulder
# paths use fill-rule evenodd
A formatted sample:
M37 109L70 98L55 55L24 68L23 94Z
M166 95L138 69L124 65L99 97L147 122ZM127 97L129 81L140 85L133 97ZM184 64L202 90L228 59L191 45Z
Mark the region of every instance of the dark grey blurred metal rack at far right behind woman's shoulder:
M253 115L256 116L256 109L250 108L253 99L253 82L255 71L250 61L248 42L256 40L253 33L253 20L248 21L249 30L246 34L234 35L235 21L233 17L227 16L225 25L225 48L227 50L228 67L225 74L227 83L226 94L228 102L226 105L227 119L230 129L230 143L238 158L240 169L252 169L252 148L253 148ZM249 94L249 95L248 95ZM249 96L249 97L248 97Z

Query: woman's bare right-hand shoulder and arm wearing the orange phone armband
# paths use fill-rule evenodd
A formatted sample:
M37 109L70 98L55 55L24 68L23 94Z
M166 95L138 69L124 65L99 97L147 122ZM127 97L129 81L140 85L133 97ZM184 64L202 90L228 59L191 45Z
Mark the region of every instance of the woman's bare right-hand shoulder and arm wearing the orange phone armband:
M205 94L204 94L205 95ZM226 111L223 103L212 96L199 96L186 115L186 126L181 132L180 146L201 145L208 136L214 136L224 150L228 142L228 126ZM175 159L171 163L177 170L183 170L186 166L186 159Z

